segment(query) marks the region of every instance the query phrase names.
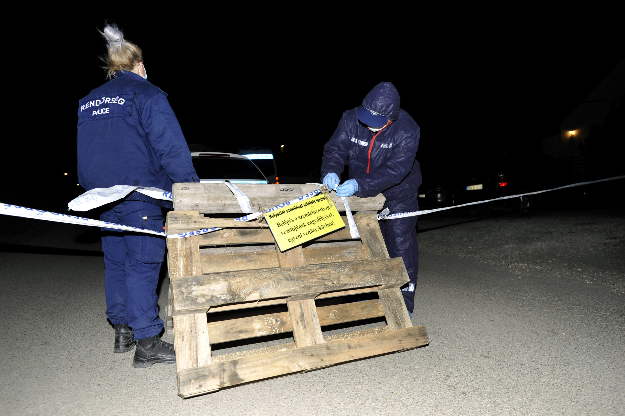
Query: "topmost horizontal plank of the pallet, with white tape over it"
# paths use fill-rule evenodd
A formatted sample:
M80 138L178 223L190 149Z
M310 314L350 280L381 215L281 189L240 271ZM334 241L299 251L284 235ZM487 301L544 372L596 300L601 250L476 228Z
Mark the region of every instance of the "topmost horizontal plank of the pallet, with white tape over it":
M271 208L286 201L299 198L306 193L319 189L319 185L247 185L237 184L249 198L252 210ZM337 210L345 211L341 198L331 194ZM175 183L173 186L175 210L199 210L201 213L239 213L241 207L232 192L222 183ZM385 198L382 194L371 198L347 198L354 211L381 210Z

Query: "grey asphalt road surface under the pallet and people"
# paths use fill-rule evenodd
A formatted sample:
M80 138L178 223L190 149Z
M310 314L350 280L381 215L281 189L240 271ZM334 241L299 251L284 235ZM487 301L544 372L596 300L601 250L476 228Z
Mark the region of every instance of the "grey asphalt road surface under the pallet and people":
M97 229L0 226L3 415L625 414L625 211L422 216L429 345L187 400L113 353Z

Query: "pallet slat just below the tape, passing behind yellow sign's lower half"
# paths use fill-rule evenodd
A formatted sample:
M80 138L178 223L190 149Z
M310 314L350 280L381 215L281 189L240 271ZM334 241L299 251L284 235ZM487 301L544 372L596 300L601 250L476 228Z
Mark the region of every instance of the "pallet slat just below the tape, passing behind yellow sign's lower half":
M343 217L341 217L342 219ZM345 222L346 220L343 220ZM201 246L222 246L234 244L274 243L271 231L266 228L226 228L199 235ZM341 228L312 241L351 240L349 227Z

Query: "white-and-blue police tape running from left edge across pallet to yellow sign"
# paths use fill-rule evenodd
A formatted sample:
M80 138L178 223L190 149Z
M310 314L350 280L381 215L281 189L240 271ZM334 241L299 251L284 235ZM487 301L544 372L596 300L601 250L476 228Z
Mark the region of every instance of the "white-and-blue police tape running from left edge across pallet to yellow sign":
M265 211L265 213L279 210L280 208L283 208L284 206L291 205L299 201L307 200L319 193L321 193L321 188L314 190L312 192L309 192L306 195L302 195L299 198L296 198L294 200L286 201L285 203L276 205L273 208L269 208L269 210ZM133 226L123 225L123 224L109 223L107 221L91 220L91 218L83 218L81 216L58 214L58 213L54 213L51 211L44 211L44 210L35 210L34 208L26 208L25 206L19 206L19 205L11 205L11 204L4 204L4 203L0 203L0 204L1 204L0 214L4 214L4 215L20 216L22 218L34 218L36 220L53 221L56 223L79 224L79 225L98 226L98 227L104 227L104 228L114 228L116 230L125 230L125 231L134 231L136 233L153 234L153 235L163 236L166 238L184 238L184 237L189 237L192 235L212 233L212 231L217 231L217 230L221 230L222 228L224 228L224 227L204 228L203 230L189 231L187 233L166 235L163 231L159 232L159 231L153 231L153 230L146 230L144 228L136 228ZM262 215L261 212L256 212L250 215L242 216L241 218L235 218L232 221L256 220L256 218L258 218L261 215Z

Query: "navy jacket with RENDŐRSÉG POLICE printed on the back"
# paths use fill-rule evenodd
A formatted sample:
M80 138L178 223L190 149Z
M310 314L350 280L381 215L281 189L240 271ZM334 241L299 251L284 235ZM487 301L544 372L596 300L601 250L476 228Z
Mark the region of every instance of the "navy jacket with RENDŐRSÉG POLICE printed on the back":
M166 96L142 76L119 71L79 101L78 181L84 189L136 185L171 191L174 182L199 181Z

